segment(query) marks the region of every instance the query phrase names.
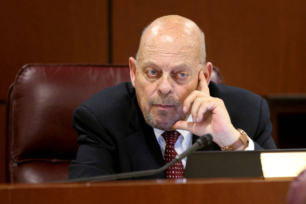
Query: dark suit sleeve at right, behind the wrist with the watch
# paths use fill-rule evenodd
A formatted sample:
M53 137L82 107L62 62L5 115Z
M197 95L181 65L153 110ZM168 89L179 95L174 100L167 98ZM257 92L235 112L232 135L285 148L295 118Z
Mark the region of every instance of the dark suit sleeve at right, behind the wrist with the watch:
M276 149L271 136L272 124L270 121L270 111L267 101L262 98L260 105L259 123L254 135L254 147L257 149Z

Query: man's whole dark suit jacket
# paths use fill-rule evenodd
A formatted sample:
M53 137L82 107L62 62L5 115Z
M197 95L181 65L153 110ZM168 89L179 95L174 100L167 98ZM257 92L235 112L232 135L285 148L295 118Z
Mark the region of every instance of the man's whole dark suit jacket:
M275 149L267 102L236 87L209 84L212 97L221 98L235 128L243 129L255 149ZM73 128L80 144L69 166L69 179L156 169L164 164L153 128L146 124L131 83L96 93L76 109ZM192 142L198 136L193 135ZM221 150L212 142L200 150ZM165 178L165 173L139 177Z

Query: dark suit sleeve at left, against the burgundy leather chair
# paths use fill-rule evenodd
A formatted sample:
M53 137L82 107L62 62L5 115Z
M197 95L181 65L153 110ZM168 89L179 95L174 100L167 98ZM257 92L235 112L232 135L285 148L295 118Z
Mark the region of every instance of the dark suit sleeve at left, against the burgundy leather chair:
M68 167L68 179L116 173L114 141L95 114L87 107L78 107L73 114L72 126L78 132L80 147L76 160Z

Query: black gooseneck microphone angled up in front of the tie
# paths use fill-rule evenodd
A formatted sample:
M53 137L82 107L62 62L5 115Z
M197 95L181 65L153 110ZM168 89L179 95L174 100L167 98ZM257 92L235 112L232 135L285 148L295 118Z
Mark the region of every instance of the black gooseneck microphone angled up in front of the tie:
M119 173L119 174L110 174L110 175L102 175L102 176L93 176L93 177L87 177L87 178L76 178L71 179L66 182L80 182L80 181L109 181L109 180L115 180L115 179L123 179L123 178L131 178L131 177L140 177L140 176L149 176L158 174L162 171L165 171L169 167L171 167L173 164L181 161L183 158L187 157L191 153L195 152L197 149L207 146L212 142L212 136L211 134L206 134L201 136L199 139L196 140L193 145L186 149L183 153L180 155L177 155L174 160L170 161L168 164L158 168L158 169L151 169L151 170L144 170L144 171L133 171L133 172L126 172L126 173Z

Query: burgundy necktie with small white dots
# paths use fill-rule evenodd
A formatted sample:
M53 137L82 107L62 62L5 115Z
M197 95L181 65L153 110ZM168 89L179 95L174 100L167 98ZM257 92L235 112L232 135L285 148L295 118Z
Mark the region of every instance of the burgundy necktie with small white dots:
M177 156L177 152L174 149L174 144L177 141L178 137L181 134L174 131L164 132L162 133L162 137L166 141L166 148L164 154L165 164L168 164L170 161L174 160ZM166 178L184 178L185 169L182 161L173 164L166 170Z

